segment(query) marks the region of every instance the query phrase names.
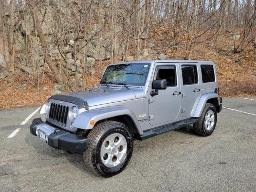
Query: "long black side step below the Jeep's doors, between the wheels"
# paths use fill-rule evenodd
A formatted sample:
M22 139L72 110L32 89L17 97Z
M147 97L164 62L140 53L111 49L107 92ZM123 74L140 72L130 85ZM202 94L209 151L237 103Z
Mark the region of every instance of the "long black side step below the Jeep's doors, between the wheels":
M171 125L157 127L157 128L152 129L152 130L145 131L142 135L137 135L136 139L145 140L145 139L148 139L150 137L154 137L156 135L160 135L162 133L166 133L166 132L174 130L174 129L186 127L186 126L188 126L190 124L193 124L197 121L198 121L198 118L192 118L190 120L177 122L177 123L174 123L174 124L171 124Z

